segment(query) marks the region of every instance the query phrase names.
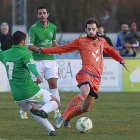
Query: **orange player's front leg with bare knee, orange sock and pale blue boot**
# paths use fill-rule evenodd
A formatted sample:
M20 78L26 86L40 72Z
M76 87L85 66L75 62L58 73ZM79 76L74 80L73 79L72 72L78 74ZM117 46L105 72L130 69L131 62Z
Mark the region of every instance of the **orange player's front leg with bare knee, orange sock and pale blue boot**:
M65 112L61 115L61 117L56 121L55 127L60 128L64 120L67 119L69 114L75 110L75 108L81 104L83 100L86 99L90 91L89 84L84 84L80 87L80 94L76 95L72 101L69 103L68 107L66 108Z

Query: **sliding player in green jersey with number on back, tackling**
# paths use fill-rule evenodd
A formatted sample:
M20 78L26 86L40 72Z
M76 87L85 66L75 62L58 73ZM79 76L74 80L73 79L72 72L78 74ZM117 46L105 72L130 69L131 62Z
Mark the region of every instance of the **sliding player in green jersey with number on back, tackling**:
M0 55L4 56L2 62L6 67L14 101L23 111L31 111L34 119L49 131L49 135L55 136L55 129L46 118L47 113L60 107L60 102L33 82L29 71L36 76L38 83L43 82L43 78L38 74L32 55L27 52L26 35L15 32L13 43L11 49Z

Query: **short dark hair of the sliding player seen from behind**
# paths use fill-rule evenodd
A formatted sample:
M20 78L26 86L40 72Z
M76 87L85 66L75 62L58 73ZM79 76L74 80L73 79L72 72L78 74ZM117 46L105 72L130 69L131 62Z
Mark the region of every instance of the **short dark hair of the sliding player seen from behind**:
M25 40L26 39L26 34L21 32L21 31L16 31L13 36L13 44L14 45L19 45L21 40Z

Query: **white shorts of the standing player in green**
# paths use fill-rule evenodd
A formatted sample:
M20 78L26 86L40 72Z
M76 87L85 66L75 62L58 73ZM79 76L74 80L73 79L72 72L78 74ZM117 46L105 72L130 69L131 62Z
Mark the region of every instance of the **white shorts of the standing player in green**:
M41 77L45 80L50 78L58 78L58 64L55 60L35 61L36 68ZM36 81L36 77L31 73L32 80Z

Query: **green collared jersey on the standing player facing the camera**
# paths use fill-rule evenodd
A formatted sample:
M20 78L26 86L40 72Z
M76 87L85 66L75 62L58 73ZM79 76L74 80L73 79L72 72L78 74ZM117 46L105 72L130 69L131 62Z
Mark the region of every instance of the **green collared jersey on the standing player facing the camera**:
M38 21L31 26L28 32L27 45L35 45L37 47L49 48L53 47L52 41L56 40L56 26L48 21L45 28ZM39 54L32 52L34 60L54 60L53 54Z

